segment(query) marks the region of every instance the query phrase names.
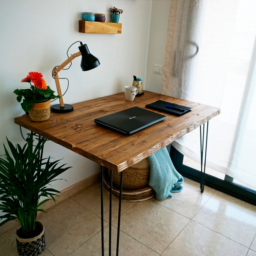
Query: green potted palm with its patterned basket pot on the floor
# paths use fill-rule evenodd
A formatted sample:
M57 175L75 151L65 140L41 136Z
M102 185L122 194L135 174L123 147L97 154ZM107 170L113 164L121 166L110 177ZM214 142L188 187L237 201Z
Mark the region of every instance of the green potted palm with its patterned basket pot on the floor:
M55 201L54 195L59 191L48 185L70 168L59 165L60 160L43 158L46 139L37 140L34 146L35 140L30 136L21 147L7 139L9 150L4 145L5 155L0 156L0 226L12 220L20 224L16 231L17 250L27 256L44 250L44 226L36 221L37 212L45 212L41 206L46 201ZM47 199L40 201L41 197Z

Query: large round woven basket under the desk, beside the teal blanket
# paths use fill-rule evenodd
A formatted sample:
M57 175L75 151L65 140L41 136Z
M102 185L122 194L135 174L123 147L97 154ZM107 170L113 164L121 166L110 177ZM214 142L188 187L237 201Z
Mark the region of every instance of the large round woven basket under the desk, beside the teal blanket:
M104 173L104 186L109 192L109 173ZM139 163L131 166L123 171L123 189L122 189L122 201L145 201L153 198L155 195L154 190L148 185L150 178L150 166L148 160L144 159ZM112 175L112 195L114 198L119 199L119 187L120 187L120 174L113 172Z

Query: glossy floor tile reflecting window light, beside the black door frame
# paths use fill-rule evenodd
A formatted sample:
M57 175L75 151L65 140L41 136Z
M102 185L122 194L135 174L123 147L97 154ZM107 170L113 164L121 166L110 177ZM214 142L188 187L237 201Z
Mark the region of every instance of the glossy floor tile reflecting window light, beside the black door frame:
M218 191L193 220L248 248L256 235L256 206Z

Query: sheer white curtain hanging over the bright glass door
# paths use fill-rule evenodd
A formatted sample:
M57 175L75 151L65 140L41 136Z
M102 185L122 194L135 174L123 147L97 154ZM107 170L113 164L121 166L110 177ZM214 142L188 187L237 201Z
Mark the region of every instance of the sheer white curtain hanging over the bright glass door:
M162 93L221 108L207 166L256 188L256 1L172 0ZM199 129L175 141L200 163Z

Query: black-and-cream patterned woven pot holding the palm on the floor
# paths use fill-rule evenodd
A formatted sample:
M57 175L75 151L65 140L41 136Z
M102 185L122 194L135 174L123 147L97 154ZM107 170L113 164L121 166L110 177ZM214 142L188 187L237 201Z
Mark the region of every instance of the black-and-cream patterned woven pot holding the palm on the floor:
M36 230L38 231L33 238L21 238L22 228L16 230L17 250L21 256L37 256L45 248L44 226L41 222L35 222Z

